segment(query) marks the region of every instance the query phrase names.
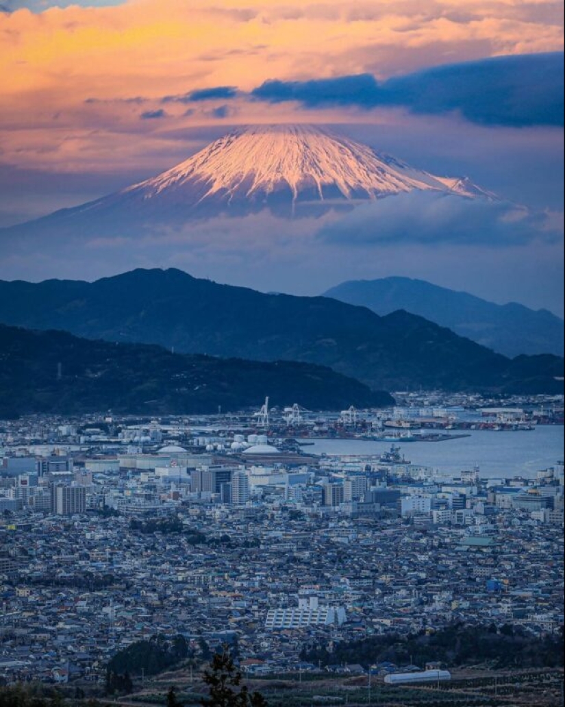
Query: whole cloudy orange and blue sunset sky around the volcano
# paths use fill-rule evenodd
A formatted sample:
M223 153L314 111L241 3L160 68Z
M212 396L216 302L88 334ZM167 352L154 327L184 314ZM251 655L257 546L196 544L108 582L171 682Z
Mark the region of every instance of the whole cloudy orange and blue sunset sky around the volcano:
M561 0L0 0L0 226L155 175L234 125L329 124L544 214L561 236L482 238L466 281L453 263L468 253L434 244L443 281L421 276L562 313L563 23ZM348 271L314 288L371 276L351 247ZM402 252L392 271L375 250L374 276L418 276ZM210 257L213 276L245 279ZM13 276L57 276L28 266Z

